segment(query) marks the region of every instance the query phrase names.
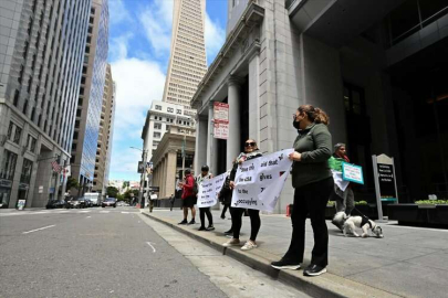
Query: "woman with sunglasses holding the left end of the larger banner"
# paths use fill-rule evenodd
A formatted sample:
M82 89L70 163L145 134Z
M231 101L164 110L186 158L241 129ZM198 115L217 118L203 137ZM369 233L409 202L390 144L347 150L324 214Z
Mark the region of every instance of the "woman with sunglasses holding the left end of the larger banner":
M244 152L241 152L238 158L233 161L233 168L230 172L230 189L235 188L235 175L237 174L238 166L241 164L246 160L259 158L262 155L260 153L257 142L253 139L248 139L244 143ZM233 237L226 242L223 246L235 246L240 244L240 231L242 225L242 214L244 213L246 209L241 207L230 207L230 215L232 216L232 232ZM250 251L252 248L257 248L257 235L260 231L261 221L260 221L260 211L249 209L248 211L250 216L250 238L249 241L241 247L242 251Z

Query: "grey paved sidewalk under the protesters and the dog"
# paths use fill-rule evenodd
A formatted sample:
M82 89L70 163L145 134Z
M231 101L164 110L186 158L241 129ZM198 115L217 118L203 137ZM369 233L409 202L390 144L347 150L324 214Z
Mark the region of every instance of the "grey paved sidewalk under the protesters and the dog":
M300 270L277 270L270 266L288 249L291 220L284 215L261 215L259 247L243 252L239 247L223 248L228 241L222 232L230 220L221 220L220 211L212 211L216 231L199 232L194 226L177 225L183 219L179 209L154 210L143 213L189 236L220 249L247 265L289 283L312 296L340 297L447 297L448 231L398 226L393 222L381 224L384 238L344 237L330 222L329 273L320 277L303 277ZM199 222L199 212L196 221ZM227 213L227 216L230 216ZM190 219L190 217L189 217ZM243 217L242 244L250 234L249 217ZM241 244L241 245L242 245ZM194 245L194 243L192 243ZM304 265L310 263L313 236L306 222Z

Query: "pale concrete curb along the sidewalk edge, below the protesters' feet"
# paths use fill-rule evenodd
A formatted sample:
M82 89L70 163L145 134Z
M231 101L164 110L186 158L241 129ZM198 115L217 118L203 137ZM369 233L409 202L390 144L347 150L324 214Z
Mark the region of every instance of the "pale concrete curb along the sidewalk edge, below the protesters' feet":
M206 237L207 235L198 235L197 233L194 233L194 231L179 226L177 223L171 221L154 216L146 212L142 212L142 214L150 220L170 226L175 231L199 241L200 243L206 244L218 252L221 252L222 255L227 255L238 262L241 262L253 269L262 272L265 275L304 291L306 295L312 297L403 297L346 279L331 273L326 273L319 278L313 278L304 277L302 270L278 270L271 267L271 260L278 258L275 255L257 249L248 254L238 248L223 247L218 242L218 236L213 236L212 234L208 234L208 237ZM221 240L221 237L219 237L219 240Z

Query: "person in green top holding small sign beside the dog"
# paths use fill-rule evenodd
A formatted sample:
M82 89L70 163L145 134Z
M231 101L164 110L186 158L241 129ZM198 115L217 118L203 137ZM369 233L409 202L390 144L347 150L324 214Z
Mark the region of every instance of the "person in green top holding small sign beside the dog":
M329 159L330 169L336 172L342 172L342 162L350 162L347 152L345 150L345 143L336 143L334 146L334 153ZM355 195L348 184L345 191L342 191L336 184L334 184L334 192L331 195L331 200L335 202L336 212L345 212L350 216L355 207ZM340 230L342 226L338 222L332 221Z

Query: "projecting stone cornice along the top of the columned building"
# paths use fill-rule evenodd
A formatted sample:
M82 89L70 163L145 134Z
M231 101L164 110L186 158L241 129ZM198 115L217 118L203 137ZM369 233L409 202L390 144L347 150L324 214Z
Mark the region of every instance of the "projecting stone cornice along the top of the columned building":
M207 89L207 87L210 85L213 78L219 74L220 70L223 67L223 65L232 55L232 53L237 50L240 42L242 42L249 35L253 26L261 24L263 19L264 19L264 8L257 4L256 0L252 0L246 8L236 28L230 32L229 36L226 39L226 42L222 45L221 51L216 56L215 61L211 63L202 81L199 83L198 88L191 98L192 108L200 109L202 104L200 97L202 93Z

